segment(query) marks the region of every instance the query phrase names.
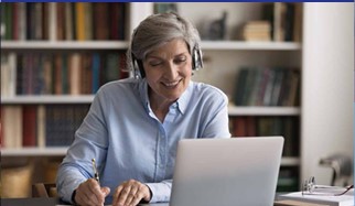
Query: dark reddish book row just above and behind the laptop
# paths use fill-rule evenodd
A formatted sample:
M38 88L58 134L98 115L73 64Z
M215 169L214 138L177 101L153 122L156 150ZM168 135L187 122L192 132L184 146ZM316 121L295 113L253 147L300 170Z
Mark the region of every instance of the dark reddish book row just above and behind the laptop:
M230 117L230 132L234 137L268 137L284 138L283 156L299 155L299 118L298 117Z

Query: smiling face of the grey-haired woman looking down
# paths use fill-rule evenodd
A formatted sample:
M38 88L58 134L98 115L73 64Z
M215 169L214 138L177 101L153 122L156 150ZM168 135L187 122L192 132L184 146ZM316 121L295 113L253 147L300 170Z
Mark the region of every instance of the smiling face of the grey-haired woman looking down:
M192 57L185 41L176 39L149 53L143 61L150 97L175 101L187 88L192 76Z

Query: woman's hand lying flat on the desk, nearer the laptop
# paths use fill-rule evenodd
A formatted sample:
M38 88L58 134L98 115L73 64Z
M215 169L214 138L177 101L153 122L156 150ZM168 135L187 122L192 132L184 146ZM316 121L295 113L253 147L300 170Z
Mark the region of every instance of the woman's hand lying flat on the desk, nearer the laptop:
M149 187L139 181L129 180L116 188L112 206L135 206L141 199L146 202L151 199Z

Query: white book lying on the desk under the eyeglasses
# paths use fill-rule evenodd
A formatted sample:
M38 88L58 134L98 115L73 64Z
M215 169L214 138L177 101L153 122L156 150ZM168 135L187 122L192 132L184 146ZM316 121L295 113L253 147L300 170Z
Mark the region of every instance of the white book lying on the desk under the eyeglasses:
M323 187L323 186L322 186ZM302 192L288 193L280 195L280 199L293 199L304 203L325 204L330 206L353 206L354 189L348 191L344 195L335 196L344 192L345 187L324 186L326 188L318 189L312 194L302 195Z

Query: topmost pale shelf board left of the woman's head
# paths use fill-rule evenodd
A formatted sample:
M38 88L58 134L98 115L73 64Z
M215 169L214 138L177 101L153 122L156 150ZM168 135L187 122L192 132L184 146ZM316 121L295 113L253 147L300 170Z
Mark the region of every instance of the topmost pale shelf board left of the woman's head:
M127 41L2 41L1 50L127 50Z

